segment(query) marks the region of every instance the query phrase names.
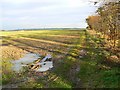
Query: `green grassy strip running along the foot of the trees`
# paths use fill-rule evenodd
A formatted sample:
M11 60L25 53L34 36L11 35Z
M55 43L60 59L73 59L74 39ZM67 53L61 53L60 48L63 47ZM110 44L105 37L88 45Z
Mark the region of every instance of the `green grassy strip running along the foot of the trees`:
M112 66L107 64L106 56L109 52L99 47L98 39L94 36L87 35L86 57L81 59L81 70L78 76L82 79L83 87L88 88L119 88L120 76L118 65Z

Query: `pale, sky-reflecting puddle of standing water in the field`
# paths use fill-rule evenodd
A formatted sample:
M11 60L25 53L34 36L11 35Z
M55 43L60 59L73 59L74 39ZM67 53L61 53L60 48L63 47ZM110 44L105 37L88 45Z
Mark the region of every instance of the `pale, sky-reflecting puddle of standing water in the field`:
M12 61L13 66L12 70L19 72L22 71L22 68L27 66L27 64L33 63L35 60L39 59L40 55L34 54L34 53L27 53L23 58L20 58L19 60ZM36 72L44 72L53 67L53 61L49 61L49 59L52 58L50 54L46 55L39 63L36 63L33 65L40 65L38 69L33 69Z

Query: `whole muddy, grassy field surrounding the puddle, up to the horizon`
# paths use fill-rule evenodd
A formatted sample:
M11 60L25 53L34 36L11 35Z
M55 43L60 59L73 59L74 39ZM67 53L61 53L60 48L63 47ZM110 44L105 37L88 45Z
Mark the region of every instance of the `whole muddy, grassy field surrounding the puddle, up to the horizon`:
M103 40L86 30L1 31L0 34L5 87L120 88L119 59L108 59L111 54L100 46ZM51 54L53 69L44 75L27 70L13 72L10 60L23 57L26 52L43 57Z

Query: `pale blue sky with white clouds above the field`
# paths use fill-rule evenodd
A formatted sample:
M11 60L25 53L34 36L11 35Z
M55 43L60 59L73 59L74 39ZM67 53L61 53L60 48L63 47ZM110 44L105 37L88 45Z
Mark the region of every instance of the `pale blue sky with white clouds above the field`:
M0 29L85 28L94 0L0 0Z

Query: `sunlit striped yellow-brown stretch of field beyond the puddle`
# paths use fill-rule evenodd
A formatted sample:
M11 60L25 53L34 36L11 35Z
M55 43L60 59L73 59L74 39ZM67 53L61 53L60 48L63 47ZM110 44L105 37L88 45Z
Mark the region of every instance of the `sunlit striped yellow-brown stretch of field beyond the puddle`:
M69 46L79 39L79 30L44 30L1 32L2 44L13 45L30 52L46 54L48 52L66 53Z

